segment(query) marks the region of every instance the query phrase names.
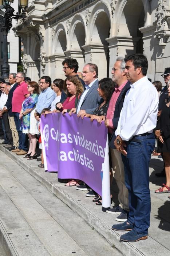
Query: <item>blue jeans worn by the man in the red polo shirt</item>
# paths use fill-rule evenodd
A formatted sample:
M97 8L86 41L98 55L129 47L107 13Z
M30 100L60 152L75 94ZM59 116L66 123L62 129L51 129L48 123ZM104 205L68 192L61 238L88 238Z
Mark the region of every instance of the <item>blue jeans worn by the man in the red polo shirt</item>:
M27 140L26 140L26 135L20 131L21 127L21 119L19 119L19 113L14 112L14 121L16 125L16 129L18 132L18 137L19 137L19 149L23 149L24 151L27 151Z

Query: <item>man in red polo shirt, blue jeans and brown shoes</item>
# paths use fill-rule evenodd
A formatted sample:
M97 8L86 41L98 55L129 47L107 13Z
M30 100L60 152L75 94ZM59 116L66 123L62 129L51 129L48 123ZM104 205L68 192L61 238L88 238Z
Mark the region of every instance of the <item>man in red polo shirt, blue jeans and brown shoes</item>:
M22 108L23 101L29 97L29 92L27 88L27 83L24 81L25 79L25 73L24 72L18 72L16 75L16 82L17 87L15 91L13 92L12 97L12 112L14 114L14 121L16 125L16 129L18 132L19 137L19 147L16 149L11 150L12 152L15 152L16 155L25 155L27 154L27 139L26 134L24 134L22 131L20 131L21 127L21 119L19 119L19 114Z

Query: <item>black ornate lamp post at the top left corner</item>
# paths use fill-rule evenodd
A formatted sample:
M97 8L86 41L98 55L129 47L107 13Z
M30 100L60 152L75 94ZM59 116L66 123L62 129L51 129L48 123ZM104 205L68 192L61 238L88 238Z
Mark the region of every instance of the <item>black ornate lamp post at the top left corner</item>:
M11 6L14 0L0 0L0 30L3 32L3 65L1 70L1 76L5 78L9 75L8 64L8 31L12 27L12 19L18 20L26 18L25 9L28 6L28 0L20 0L19 7L21 8L21 14L14 14L15 10Z

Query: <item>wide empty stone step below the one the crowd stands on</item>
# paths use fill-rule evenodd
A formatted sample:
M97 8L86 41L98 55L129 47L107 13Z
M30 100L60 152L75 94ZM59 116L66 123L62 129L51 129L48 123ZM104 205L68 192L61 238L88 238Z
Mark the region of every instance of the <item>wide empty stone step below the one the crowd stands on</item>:
M122 255L2 152L0 165L1 226L10 241L11 255Z

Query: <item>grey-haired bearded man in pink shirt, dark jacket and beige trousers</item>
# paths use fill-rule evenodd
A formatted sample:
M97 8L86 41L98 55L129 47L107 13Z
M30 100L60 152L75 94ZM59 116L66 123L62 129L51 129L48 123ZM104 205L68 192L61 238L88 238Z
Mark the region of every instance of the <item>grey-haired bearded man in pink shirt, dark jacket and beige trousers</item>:
M116 221L126 221L129 212L128 190L124 183L124 166L122 162L121 153L118 152L114 146L116 138L115 131L118 126L120 112L122 110L124 97L127 90L130 89L130 82L127 81L124 73L125 61L124 57L118 57L112 68L112 80L116 83L115 91L112 94L107 110L105 125L109 128L111 135L109 146L111 149L112 168L114 170L114 178L118 186L118 200L119 205L108 209L106 212L111 214L119 214Z

